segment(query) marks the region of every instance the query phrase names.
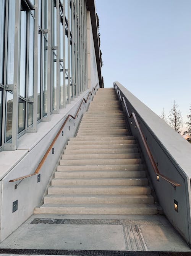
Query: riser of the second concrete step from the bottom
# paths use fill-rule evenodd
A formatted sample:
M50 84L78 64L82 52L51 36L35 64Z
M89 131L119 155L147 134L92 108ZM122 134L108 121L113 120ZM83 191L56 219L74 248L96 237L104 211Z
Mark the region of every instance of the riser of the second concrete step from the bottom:
M95 197L45 197L44 203L97 203L97 204L128 204L128 203L147 203L152 204L153 198L95 198Z

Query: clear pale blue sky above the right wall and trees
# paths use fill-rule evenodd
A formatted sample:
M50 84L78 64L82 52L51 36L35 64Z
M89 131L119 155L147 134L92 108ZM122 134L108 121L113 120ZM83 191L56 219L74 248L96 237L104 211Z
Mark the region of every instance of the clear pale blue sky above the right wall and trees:
M95 0L104 87L119 81L156 114L191 104L191 0Z

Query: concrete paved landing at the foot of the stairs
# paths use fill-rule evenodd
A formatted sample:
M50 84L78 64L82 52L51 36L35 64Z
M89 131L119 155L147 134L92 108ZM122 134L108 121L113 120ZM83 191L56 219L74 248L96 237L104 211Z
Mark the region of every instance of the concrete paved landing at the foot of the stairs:
M163 215L32 215L0 248L191 251Z

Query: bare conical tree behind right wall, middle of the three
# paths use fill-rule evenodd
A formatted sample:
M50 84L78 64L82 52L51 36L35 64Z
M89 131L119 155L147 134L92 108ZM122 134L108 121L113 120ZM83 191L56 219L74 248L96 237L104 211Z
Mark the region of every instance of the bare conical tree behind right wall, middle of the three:
M169 124L173 129L175 129L176 132L180 133L181 127L183 126L181 111L178 110L178 104L175 100L172 102L172 104L173 105L168 116Z

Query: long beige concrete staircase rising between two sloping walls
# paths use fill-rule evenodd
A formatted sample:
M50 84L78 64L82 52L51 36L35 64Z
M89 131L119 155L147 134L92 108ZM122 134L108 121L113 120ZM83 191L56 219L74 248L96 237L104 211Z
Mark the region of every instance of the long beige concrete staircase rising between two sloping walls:
M70 138L41 214L157 214L114 89L98 89Z

